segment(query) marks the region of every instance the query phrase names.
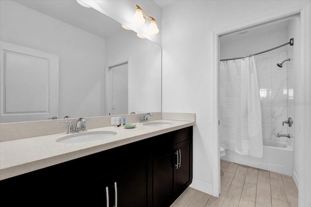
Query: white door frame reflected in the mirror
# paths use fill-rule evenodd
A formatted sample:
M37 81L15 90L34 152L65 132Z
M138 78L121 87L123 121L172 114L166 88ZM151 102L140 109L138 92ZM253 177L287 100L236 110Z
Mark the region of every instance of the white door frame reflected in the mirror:
M127 111L131 111L131 67L130 67L130 58L125 60L117 61L113 64L109 64L105 67L105 116L110 116L108 113L111 110L112 102L112 73L111 68L127 63Z

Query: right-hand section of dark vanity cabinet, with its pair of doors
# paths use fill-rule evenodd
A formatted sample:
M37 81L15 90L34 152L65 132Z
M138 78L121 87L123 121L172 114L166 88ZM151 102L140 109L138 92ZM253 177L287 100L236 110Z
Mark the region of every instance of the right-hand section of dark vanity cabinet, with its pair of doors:
M156 140L153 156L153 206L167 207L192 182L192 127Z

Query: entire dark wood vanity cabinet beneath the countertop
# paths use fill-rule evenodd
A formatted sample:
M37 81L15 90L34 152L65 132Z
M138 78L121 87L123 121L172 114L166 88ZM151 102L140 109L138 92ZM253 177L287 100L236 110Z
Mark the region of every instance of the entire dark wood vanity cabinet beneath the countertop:
M192 126L8 178L0 188L11 205L169 207L191 181Z

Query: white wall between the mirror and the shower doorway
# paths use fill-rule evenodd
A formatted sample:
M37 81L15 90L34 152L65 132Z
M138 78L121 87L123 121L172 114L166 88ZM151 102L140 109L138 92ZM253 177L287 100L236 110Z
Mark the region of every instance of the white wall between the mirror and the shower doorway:
M307 1L183 0L162 10L163 112L196 114L192 187L212 190L215 137L213 32L272 15ZM178 75L178 78L176 76Z

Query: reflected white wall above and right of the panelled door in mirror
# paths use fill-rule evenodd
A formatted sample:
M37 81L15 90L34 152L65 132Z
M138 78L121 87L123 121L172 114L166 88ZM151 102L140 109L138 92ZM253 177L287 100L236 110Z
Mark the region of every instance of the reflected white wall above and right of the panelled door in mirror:
M102 115L105 40L13 1L0 3L1 41L59 55L59 117Z

